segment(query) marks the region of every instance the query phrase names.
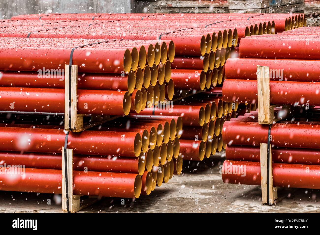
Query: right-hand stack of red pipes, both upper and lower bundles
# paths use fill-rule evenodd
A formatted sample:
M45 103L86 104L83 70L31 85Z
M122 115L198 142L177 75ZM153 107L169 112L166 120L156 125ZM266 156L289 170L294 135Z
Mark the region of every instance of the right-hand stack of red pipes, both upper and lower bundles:
M319 29L296 28L271 37L252 36L250 42L244 38L240 42L240 59L228 60L223 98L229 102L256 103L256 72L260 65L270 69L270 103L303 109L274 123L270 133L268 125L258 123L258 111L226 121L222 132L228 144L222 168L225 183L260 185L259 144L269 139L274 186L320 189L320 48L316 30ZM286 112L275 109L276 116Z

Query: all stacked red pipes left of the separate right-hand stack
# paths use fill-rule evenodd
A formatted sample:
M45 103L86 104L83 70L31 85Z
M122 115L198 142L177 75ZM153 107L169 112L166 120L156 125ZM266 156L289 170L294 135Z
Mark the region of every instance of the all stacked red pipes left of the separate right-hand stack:
M173 172L180 174L182 157L201 160L222 149L221 123L236 110L216 87L223 82L226 59L237 57L233 54L240 39L285 31L292 17L297 26L303 25L304 14L287 14L276 21L274 14L49 14L3 20L0 86L6 93L2 92L0 109L12 111L12 103L13 111L63 113L64 77L45 74L47 69L64 69L75 48L78 113L131 114L69 134L68 148L76 154L74 193L149 194ZM181 94L204 89L211 90L180 101ZM117 99L120 93L126 99ZM179 103L171 109L174 93ZM59 125L28 127L30 123L17 122L0 127L3 162L28 166L25 178L4 175L1 190L60 193L65 132ZM178 137L183 137L180 151ZM87 173L82 171L85 167Z

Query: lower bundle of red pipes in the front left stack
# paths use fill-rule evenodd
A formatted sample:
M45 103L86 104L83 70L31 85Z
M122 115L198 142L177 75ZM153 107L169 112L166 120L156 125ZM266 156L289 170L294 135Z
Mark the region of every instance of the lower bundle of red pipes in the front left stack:
M75 153L74 194L127 198L149 195L173 174L181 173L181 130L180 117L130 114L126 120L81 133L70 132L67 147ZM0 161L6 164L8 173L0 174L0 190L61 193L61 186L56 187L62 180L65 139L60 126L3 123L0 135ZM10 173L14 165L25 166L26 177Z

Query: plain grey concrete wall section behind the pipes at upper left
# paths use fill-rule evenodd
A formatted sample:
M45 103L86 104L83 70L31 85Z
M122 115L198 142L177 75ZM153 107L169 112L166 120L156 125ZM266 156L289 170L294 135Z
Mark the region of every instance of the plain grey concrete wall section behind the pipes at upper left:
M38 13L130 12L134 12L134 0L0 0L0 19Z

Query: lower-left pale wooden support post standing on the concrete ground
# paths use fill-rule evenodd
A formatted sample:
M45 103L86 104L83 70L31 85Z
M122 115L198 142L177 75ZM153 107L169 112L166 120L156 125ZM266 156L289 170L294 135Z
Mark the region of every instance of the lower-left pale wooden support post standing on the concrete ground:
M66 193L66 173L65 173L65 161L64 161L64 147L62 147L62 211L67 211L67 193ZM97 197L91 197L89 201L84 202L81 200L82 195L73 195L73 149L67 149L67 172L68 172L68 200L69 211L76 213L93 203L98 199ZM92 199L93 198L93 199ZM83 203L82 203L83 202Z

